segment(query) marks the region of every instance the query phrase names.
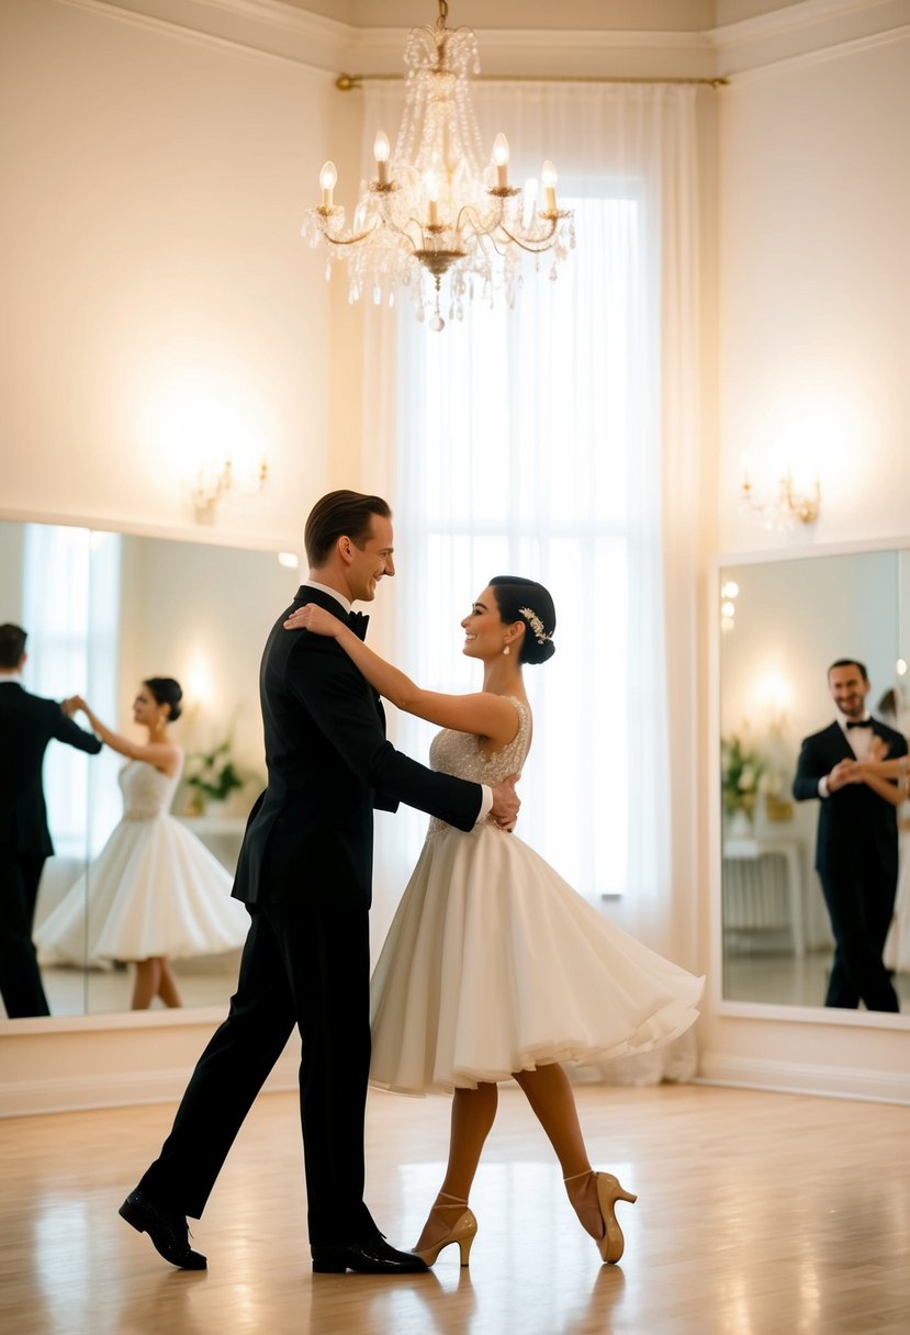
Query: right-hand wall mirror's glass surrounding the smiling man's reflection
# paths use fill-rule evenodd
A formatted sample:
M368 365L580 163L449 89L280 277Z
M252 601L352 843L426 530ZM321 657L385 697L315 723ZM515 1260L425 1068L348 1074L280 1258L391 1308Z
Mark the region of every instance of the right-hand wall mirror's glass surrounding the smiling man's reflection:
M814 870L819 804L794 802L791 785L802 738L835 717L827 668L838 658L866 665L870 710L910 732L910 550L730 563L718 593L723 1001L823 1007L834 943ZM907 1023L910 804L898 821L885 960L902 1011L889 1019Z

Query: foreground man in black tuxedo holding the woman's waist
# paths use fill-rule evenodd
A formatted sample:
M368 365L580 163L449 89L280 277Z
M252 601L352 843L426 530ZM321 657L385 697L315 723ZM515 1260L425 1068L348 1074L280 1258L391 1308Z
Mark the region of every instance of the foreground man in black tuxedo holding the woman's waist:
M512 781L496 789L438 774L386 740L379 697L330 637L291 634L306 602L354 618L395 574L391 511L334 491L306 529L310 578L266 643L260 702L268 788L254 806L234 894L252 925L224 1024L200 1057L159 1159L120 1208L172 1264L201 1270L199 1218L240 1124L296 1025L300 1117L316 1271L426 1270L390 1247L363 1202L370 1069L372 812L399 801L459 829L490 813L511 829ZM366 618L362 618L366 622Z

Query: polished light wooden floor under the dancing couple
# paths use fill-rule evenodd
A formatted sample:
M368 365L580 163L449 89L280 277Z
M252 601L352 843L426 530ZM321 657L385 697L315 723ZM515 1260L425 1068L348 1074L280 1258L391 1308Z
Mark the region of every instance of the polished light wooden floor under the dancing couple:
M256 1104L175 1271L116 1214L172 1108L0 1123L0 1328L11 1335L906 1335L910 1109L738 1089L583 1085L595 1164L639 1193L600 1266L522 1095L503 1087L470 1271L312 1275L296 1100ZM412 1244L448 1103L374 1093L368 1202Z

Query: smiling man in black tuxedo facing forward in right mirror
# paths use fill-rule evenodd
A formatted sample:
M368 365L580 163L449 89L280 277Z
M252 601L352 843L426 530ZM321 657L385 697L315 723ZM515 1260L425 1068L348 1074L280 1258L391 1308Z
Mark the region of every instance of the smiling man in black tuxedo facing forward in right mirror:
M853 765L870 757L873 737L886 744L889 760L906 756L907 744L866 709L871 684L861 662L838 658L827 684L838 717L806 737L793 784L797 801L821 798L815 869L835 943L825 1005L898 1011L882 963L897 892L897 808L857 781Z

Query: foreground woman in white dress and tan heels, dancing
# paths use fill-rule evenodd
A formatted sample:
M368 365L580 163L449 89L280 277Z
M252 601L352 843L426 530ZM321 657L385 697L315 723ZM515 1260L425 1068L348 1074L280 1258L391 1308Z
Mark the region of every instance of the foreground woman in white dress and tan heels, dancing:
M518 773L531 744L524 663L554 653L547 590L496 577L462 621L464 654L483 663L483 689L420 690L331 613L310 603L288 629L334 635L367 681L398 708L444 730L432 768L484 784ZM611 1173L594 1172L562 1061L643 1052L687 1029L703 980L610 924L527 844L490 821L463 833L431 820L371 985L371 1081L408 1093L454 1091L444 1180L415 1251L434 1264L476 1234L468 1193L496 1113L499 1080L514 1077L562 1165L566 1191L604 1262L623 1252Z

